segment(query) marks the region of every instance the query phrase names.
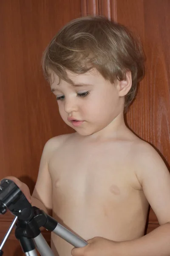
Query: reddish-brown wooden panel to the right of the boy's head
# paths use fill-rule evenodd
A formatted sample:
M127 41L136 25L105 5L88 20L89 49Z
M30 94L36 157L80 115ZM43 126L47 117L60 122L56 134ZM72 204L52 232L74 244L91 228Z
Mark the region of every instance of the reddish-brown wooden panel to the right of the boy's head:
M170 1L99 0L99 13L128 26L142 40L147 57L146 75L127 113L127 123L156 148L169 168ZM152 228L158 223L152 209L149 223Z

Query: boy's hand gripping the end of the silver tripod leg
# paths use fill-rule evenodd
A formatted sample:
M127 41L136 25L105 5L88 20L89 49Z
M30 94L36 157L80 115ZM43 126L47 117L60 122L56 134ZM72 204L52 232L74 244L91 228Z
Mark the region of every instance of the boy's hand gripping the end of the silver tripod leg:
M87 241L88 245L82 248L73 248L72 256L118 256L119 242L94 237Z

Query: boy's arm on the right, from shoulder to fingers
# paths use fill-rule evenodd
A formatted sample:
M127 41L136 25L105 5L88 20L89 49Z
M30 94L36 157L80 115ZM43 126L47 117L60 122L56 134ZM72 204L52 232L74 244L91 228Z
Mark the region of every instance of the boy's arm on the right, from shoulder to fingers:
M148 144L136 149L133 159L136 176L160 227L131 241L97 237L83 248L74 248L73 256L170 256L170 174L159 154Z

